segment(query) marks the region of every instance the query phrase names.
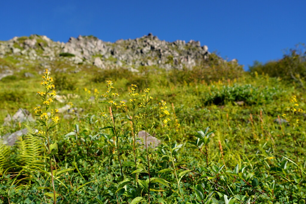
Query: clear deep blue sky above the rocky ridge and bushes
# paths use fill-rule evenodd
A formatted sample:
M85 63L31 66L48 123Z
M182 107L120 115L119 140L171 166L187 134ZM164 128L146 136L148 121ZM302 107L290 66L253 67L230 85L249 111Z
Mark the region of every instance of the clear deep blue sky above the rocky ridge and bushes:
M306 43L306 1L1 1L0 40L30 34L67 42L93 35L103 41L149 32L161 40L199 40L223 58L252 65L281 59Z

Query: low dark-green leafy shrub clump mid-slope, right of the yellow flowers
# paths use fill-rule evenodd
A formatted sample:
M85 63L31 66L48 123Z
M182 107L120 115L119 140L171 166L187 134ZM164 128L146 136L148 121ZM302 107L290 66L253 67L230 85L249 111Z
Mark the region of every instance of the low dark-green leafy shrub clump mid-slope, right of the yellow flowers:
M233 86L222 86L217 89L212 86L211 93L207 93L203 98L205 104L225 104L226 102L244 101L246 104L265 104L272 102L273 98L279 93L278 89L259 88L250 84Z

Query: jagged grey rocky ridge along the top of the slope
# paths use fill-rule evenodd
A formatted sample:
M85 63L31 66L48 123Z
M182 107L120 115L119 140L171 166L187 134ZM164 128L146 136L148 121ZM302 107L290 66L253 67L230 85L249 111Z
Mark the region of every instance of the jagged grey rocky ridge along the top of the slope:
M94 36L70 37L67 43L61 43L38 35L0 41L0 59L13 57L13 68L37 61L42 64L65 61L91 64L101 69L122 67L136 71L139 66L153 65L165 69L182 69L200 64L209 54L208 47L201 46L199 41L166 42L151 33L134 40L117 40L114 43L104 42ZM4 62L0 61L0 78L11 75L7 70L13 70Z

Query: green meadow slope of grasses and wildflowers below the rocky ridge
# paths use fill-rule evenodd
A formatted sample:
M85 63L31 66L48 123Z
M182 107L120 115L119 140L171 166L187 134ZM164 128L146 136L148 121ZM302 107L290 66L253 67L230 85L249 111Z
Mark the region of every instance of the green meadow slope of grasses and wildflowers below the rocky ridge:
M57 203L305 204L299 81L214 56L191 70L50 66L61 99L52 104L37 96L45 96L41 78L0 81L1 123L20 107L42 111L41 121L2 126L0 135L27 128L44 136L0 144L0 203L54 203L55 195ZM41 115L55 118L48 112L66 104L48 121L58 125L41 129ZM144 145L149 135L161 142L156 148Z

